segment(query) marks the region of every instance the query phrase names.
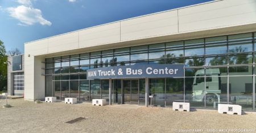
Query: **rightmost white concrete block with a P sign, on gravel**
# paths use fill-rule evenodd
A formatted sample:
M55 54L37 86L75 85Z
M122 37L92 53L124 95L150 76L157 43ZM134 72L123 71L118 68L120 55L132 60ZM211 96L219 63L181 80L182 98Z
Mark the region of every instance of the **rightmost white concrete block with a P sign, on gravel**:
M242 106L234 104L218 104L218 113L242 114Z

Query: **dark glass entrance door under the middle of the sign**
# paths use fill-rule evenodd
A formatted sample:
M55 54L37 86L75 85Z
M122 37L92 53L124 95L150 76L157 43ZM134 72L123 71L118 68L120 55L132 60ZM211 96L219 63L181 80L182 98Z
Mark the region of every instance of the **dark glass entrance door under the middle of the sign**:
M125 104L138 104L139 81L123 80L123 93Z

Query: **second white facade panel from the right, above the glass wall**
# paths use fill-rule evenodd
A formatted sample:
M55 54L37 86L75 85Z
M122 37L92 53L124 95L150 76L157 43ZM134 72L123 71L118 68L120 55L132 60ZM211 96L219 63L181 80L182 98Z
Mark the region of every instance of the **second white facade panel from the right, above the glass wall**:
M121 41L177 33L177 10L121 22Z

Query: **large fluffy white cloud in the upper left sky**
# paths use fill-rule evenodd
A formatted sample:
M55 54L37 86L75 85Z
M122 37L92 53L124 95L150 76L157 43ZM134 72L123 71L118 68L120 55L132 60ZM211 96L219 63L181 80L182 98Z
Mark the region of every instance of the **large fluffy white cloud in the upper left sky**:
M19 25L33 25L35 23L48 26L52 25L51 22L43 18L41 10L37 8L21 5L18 7L9 7L7 11L11 17L19 20Z

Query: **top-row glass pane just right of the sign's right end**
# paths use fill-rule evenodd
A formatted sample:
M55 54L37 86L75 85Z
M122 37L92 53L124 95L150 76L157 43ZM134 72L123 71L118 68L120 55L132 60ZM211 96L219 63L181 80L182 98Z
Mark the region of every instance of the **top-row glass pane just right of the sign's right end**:
M203 55L204 39L187 40L185 43L185 56Z

